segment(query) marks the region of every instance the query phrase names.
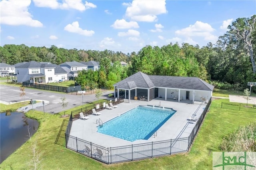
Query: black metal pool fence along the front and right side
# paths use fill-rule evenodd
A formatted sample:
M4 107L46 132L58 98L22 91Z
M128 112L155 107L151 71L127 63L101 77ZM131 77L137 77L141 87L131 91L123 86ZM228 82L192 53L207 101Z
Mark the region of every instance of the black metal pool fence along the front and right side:
M106 164L128 162L145 158L153 158L156 156L188 152L200 128L200 125L204 120L210 103L211 99L209 100L202 115L196 122L195 127L188 137L106 148L104 146L71 136L69 134L70 131L67 130L65 134L66 148ZM70 115L70 117L72 117L72 115ZM72 124L72 119L70 119L70 124Z

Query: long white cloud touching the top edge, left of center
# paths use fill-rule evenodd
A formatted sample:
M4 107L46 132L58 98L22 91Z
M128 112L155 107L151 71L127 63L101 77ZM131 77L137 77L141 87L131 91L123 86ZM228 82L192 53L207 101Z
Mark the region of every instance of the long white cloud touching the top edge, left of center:
M47 7L62 10L74 9L78 11L85 11L90 8L97 7L95 4L87 1L83 4L82 0L63 0L62 3L58 2L58 0L33 0L33 2L37 7Z

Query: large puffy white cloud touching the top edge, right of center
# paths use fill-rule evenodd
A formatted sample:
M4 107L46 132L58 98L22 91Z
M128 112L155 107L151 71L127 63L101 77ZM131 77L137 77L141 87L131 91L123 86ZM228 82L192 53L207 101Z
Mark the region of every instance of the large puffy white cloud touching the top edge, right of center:
M166 14L165 0L133 0L126 9L126 16L134 21L154 22L157 15Z

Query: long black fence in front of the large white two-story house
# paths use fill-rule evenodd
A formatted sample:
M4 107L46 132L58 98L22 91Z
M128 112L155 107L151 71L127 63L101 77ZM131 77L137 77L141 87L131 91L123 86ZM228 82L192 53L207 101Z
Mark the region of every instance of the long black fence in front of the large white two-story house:
M73 86L73 87L61 87L61 86L54 86L54 85L46 85L46 84L37 84L37 83L30 83L30 82L22 82L23 87L32 87L35 89L42 89L42 90L50 90L50 91L58 91L64 93L72 93L75 91L81 91L81 86Z

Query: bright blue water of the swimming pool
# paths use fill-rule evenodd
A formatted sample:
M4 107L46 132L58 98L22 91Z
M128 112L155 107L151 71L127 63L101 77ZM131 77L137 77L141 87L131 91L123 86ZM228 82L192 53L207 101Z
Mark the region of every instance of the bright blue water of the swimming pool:
M98 131L128 141L147 140L176 111L162 107L138 106L106 123L98 126Z

